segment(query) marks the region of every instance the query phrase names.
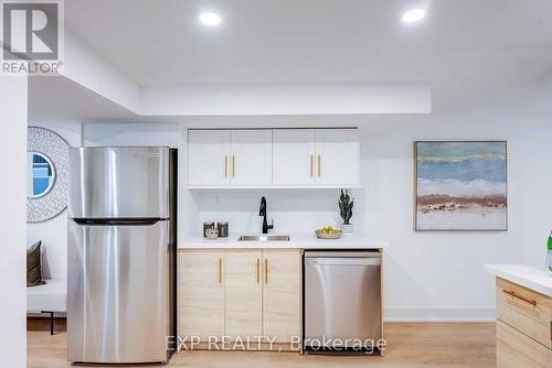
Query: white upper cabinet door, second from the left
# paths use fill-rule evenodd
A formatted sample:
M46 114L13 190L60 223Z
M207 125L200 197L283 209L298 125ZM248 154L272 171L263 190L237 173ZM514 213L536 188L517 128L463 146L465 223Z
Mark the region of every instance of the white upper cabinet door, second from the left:
M231 183L234 186L272 184L272 130L232 130Z

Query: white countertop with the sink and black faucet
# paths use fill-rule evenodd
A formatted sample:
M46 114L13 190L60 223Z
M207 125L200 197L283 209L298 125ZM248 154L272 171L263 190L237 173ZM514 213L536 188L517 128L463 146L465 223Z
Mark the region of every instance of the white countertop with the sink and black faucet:
M279 235L279 234L270 234ZM240 235L231 234L227 238L214 240L203 237L187 238L179 241L179 248L302 248L302 249L384 249L386 241L381 241L362 234L343 235L340 239L322 240L312 234L286 234L289 241L238 241Z

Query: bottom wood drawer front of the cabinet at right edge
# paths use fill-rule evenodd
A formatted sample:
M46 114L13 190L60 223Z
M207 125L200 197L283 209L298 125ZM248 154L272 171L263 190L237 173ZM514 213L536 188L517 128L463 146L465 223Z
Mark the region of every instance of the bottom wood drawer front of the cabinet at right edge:
M552 350L497 320L498 368L550 368Z

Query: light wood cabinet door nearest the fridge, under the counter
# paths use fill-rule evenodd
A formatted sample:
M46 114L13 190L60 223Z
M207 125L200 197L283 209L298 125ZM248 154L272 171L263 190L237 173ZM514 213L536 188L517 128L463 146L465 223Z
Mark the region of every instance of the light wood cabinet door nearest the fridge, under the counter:
M224 336L224 251L180 251L179 263L179 335Z

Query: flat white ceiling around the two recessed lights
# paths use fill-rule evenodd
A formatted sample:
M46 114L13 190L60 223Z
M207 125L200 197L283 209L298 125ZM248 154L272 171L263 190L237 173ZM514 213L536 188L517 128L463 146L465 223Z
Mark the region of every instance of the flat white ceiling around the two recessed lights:
M421 24L400 22L427 1L71 0L65 20L145 87L420 82L442 111L552 79L552 1L436 0ZM199 24L204 10L223 24Z

